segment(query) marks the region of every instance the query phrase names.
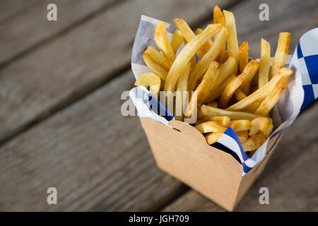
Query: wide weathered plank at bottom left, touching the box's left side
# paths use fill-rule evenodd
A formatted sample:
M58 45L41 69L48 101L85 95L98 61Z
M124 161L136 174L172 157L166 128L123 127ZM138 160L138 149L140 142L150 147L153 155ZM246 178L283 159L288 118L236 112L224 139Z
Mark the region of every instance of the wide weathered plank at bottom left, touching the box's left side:
M155 165L119 99L129 71L0 149L0 210L156 210L186 187ZM47 204L47 188L58 204Z

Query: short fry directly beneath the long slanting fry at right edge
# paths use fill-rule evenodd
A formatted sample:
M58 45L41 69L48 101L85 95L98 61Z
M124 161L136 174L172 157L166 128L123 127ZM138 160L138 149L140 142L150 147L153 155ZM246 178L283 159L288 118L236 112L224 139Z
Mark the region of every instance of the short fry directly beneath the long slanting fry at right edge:
M276 87L274 90L261 102L261 105L257 108L255 111L255 114L259 115L266 115L268 114L271 109L276 105L278 100L281 98L281 95L283 95L284 89Z

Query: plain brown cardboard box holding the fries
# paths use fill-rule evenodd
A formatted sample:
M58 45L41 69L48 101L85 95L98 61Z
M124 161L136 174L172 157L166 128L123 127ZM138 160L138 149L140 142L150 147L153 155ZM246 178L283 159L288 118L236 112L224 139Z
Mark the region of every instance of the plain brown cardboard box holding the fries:
M158 167L230 211L259 177L281 137L269 142L264 160L242 177L240 162L208 145L193 126L174 120L171 129L150 118L140 120Z

